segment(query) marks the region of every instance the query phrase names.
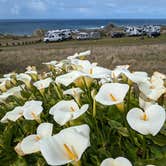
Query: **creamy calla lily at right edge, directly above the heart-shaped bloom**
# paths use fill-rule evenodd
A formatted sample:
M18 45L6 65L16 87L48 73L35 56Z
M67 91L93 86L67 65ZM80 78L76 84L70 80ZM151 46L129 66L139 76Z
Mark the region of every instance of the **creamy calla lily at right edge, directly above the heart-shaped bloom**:
M149 99L157 101L158 98L166 93L164 87L164 81L159 78L152 76L150 81L139 84L139 90Z

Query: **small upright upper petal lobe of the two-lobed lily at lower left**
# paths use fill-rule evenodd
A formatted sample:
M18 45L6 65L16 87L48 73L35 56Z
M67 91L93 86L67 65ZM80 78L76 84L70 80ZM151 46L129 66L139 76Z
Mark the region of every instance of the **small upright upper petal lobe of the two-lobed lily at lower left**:
M40 137L48 137L52 135L53 124L52 123L41 123L37 128L37 134Z

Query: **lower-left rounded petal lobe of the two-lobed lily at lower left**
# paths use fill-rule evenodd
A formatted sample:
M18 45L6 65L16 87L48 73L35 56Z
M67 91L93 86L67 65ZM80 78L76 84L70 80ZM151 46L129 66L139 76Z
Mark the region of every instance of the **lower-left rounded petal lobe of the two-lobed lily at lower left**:
M31 154L40 151L37 135L29 135L21 142L21 149L24 154Z

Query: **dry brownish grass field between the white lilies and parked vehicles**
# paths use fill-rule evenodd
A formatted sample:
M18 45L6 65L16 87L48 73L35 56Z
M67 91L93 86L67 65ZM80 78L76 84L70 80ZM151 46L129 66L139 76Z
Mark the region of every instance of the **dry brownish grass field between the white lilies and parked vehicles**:
M45 44L39 38L0 39L0 74L24 71L28 65L45 70L42 62L61 60L75 52L92 50L90 60L112 68L130 64L133 70L166 73L166 35L158 38L141 37L103 38L100 40L65 41ZM24 41L24 45L12 45ZM4 43L9 43L7 46ZM5 46L4 46L5 45Z

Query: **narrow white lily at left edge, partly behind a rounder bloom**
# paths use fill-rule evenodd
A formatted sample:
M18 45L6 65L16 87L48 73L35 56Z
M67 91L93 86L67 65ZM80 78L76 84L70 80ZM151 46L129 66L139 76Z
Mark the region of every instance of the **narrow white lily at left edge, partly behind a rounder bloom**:
M16 121L20 117L23 116L22 107L15 107L12 111L9 111L5 114L5 116L1 119L1 123L7 123L8 121Z

